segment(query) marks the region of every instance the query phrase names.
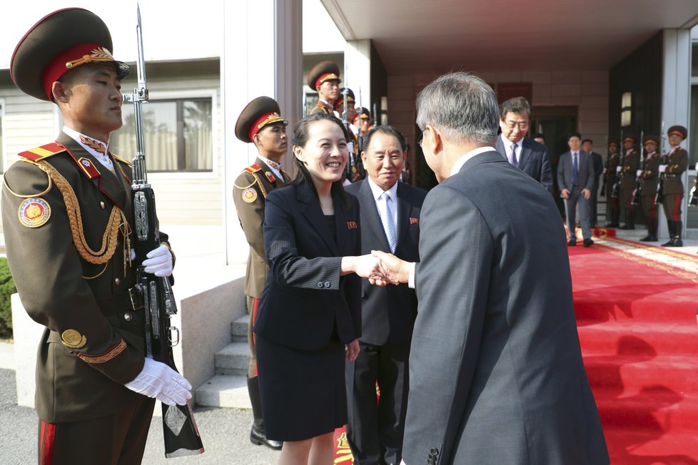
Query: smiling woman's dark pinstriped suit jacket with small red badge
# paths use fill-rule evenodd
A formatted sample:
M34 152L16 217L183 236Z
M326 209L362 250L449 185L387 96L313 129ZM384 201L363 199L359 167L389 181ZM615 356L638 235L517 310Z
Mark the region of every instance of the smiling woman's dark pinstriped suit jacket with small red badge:
M264 212L269 275L256 334L300 350L324 347L335 321L345 344L361 336L360 277L340 277L342 257L361 254L358 200L348 197L348 211L334 198L333 233L309 185L286 185L269 193Z

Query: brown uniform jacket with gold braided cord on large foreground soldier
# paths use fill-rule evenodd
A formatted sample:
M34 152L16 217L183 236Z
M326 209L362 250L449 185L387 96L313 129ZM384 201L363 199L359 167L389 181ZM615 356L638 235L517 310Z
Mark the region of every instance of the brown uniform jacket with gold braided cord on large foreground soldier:
M46 327L36 412L52 423L117 412L141 395L123 384L145 352L143 310L127 292L131 167L113 157L113 175L64 133L21 155L5 174L2 220L22 305Z

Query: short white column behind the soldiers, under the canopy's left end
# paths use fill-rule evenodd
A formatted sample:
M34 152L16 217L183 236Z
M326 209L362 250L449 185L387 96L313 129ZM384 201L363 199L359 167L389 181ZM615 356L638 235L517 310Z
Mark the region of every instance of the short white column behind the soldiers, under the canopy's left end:
M354 91L356 108L364 106L373 116L371 107L371 41L347 41L344 48L342 86Z

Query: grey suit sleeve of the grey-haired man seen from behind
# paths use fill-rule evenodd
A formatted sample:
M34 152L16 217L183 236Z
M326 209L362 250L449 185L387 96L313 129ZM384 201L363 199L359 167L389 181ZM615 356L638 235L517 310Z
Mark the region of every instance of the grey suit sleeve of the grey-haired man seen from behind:
M420 464L436 447L450 463L479 357L493 241L480 210L445 186L427 195L420 223L403 458Z

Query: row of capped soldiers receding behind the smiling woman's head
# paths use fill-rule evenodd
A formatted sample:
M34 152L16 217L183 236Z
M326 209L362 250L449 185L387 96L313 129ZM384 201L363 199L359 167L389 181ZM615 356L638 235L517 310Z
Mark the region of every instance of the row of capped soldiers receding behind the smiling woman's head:
M350 139L345 175L349 183L355 183L366 176L360 153L364 137L373 127L373 120L368 108L356 108L354 92L350 88L340 88L341 82L339 66L333 61L321 61L310 69L308 87L318 92L318 103L310 114L326 113L344 122Z

